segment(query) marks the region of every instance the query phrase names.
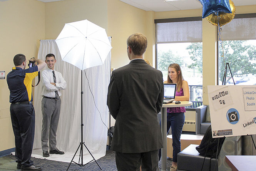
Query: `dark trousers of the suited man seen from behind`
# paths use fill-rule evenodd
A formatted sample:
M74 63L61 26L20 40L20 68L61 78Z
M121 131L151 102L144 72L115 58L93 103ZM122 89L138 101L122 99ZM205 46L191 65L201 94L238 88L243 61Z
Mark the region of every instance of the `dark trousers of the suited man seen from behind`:
M160 171L158 168L158 150L144 153L120 153L115 151L115 163L118 171Z

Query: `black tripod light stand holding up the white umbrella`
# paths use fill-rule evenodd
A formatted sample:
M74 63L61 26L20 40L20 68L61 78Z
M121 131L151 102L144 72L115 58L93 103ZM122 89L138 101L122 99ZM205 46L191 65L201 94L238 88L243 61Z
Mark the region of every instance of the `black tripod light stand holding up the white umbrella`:
M78 163L76 163L75 161L73 161L73 159L75 158L75 154L77 154L77 151L75 151L75 154L74 154L72 160L70 161L69 166L70 166L70 164L71 164L72 162L74 162L75 164L77 164L77 165L79 165L79 166L85 166L86 164L90 163L91 161L95 161L95 162L98 164L100 170L102 170L102 168L100 167L99 163L96 161L96 159L94 158L94 156L92 155L92 153L89 151L89 149L87 148L87 146L86 146L85 143L83 142L83 126L84 126L84 124L83 124L83 94L84 94L84 92L83 92L82 89L83 89L83 70L81 70L81 142L80 142L80 144L79 144L79 146L78 146L78 148L77 148L77 151L78 151L78 149L80 148L79 161L78 161ZM85 146L85 148L87 149L87 151L90 153L90 155L91 155L92 158L93 158L93 160L89 161L89 162L86 163L86 164L83 164L83 146ZM81 163L80 163L80 159L81 159ZM67 170L68 170L68 169L69 169L69 167L67 168Z

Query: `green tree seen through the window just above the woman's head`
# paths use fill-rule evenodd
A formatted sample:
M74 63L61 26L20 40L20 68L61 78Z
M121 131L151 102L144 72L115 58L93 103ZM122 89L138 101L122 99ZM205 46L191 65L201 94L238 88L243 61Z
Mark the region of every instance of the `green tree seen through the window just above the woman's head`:
M171 50L158 51L157 54L157 69L166 71L171 63L177 63L180 66L184 63L183 59L179 55L174 55Z

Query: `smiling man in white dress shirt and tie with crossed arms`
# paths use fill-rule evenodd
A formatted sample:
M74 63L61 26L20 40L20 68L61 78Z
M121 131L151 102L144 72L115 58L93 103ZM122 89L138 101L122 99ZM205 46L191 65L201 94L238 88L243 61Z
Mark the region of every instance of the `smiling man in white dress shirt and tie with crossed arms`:
M48 68L42 71L41 74L44 85L41 106L43 114L41 142L43 156L49 157L50 154L64 154L64 151L60 151L56 147L56 132L60 118L61 90L67 88L67 83L62 77L62 74L54 70L56 63L54 54L47 54L45 63L47 63ZM50 150L50 154L48 150Z

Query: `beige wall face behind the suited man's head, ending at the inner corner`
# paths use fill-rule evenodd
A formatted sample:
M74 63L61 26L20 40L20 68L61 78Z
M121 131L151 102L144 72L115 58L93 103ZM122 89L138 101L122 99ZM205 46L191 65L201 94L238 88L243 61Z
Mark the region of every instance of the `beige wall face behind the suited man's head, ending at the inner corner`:
M146 28L147 15L144 10L120 0L108 0L107 5L108 35L112 36L111 44L113 47L111 50L111 68L119 68L129 63L126 51L127 38L136 32L143 33L146 37L149 36Z

